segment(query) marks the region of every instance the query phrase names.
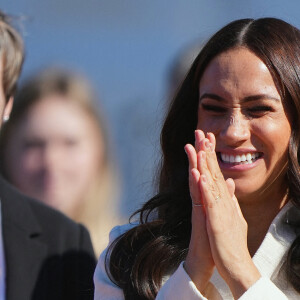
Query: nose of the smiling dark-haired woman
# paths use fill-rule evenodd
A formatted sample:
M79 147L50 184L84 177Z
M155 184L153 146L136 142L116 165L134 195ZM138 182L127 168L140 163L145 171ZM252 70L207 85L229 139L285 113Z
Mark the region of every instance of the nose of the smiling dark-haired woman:
M219 137L227 145L241 144L250 138L249 120L242 114L232 114L223 124Z

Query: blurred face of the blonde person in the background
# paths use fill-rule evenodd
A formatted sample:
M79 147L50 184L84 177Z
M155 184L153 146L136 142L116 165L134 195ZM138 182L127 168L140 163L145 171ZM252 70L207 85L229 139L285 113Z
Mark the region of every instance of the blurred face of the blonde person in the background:
M101 143L85 111L62 96L49 96L16 125L6 169L21 191L72 216L99 174Z

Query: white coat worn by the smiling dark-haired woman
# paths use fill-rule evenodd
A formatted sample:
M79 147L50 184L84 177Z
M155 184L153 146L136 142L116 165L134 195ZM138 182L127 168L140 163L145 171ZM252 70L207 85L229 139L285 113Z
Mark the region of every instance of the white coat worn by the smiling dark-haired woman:
M275 217L270 228L253 256L253 262L262 277L250 287L240 300L286 300L300 299L300 294L287 282L283 263L287 251L296 237L295 227L289 224L300 222L300 213L292 205L285 205ZM117 226L110 233L110 243L135 225ZM123 300L123 291L111 282L104 266L106 250L101 254L94 274L94 300ZM204 295L205 296L204 296ZM229 287L215 272L207 289L201 294L183 268L183 262L160 289L157 300L231 300Z

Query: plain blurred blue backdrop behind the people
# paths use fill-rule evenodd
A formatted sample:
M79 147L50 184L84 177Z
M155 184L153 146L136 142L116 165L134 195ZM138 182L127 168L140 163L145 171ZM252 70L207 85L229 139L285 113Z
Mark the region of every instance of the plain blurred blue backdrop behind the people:
M153 193L167 75L177 54L237 18L280 17L300 27L299 0L1 0L0 8L24 16L22 77L55 63L92 80L122 172L125 216Z

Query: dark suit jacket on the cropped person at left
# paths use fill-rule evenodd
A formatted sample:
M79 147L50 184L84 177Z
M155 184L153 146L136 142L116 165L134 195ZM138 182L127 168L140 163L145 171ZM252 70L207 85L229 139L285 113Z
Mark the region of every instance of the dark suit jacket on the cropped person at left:
M89 233L0 177L7 300L93 299Z

